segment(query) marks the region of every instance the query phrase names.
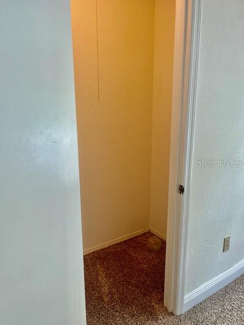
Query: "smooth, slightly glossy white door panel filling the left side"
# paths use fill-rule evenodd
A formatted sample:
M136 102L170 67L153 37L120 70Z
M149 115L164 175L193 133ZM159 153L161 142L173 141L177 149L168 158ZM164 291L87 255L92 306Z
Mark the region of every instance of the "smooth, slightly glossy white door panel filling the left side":
M85 322L68 0L2 0L0 319Z

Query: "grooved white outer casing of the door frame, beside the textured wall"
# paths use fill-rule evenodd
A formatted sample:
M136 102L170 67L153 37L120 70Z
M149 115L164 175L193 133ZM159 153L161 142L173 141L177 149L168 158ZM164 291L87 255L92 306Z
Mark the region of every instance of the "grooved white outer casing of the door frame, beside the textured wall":
M176 314L181 314L184 311L185 299L185 278L186 278L186 255L187 255L187 237L188 237L188 219L190 206L190 185L192 172L192 156L193 156L193 141L194 141L194 122L195 122L195 106L196 106L196 91L197 91L197 70L199 56L199 41L200 41L200 24L201 24L201 1L194 0L192 6L192 21L191 21L191 39L187 46L189 51L190 62L186 67L185 74L189 72L189 77L186 80L188 83L184 85L184 98L182 106L181 129L182 134L185 133L185 143L180 145L179 156L180 166L183 170L178 175L178 183L184 184L185 193L182 196L180 208L180 237L179 237L179 282L178 282L178 305ZM187 78L187 77L186 77ZM188 90L188 91L187 91ZM183 131L186 127L185 132Z

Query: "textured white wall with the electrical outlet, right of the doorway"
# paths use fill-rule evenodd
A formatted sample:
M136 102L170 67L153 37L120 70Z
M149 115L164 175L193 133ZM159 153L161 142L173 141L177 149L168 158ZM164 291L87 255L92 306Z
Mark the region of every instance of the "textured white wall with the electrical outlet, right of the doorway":
M244 158L244 2L204 0L197 84L186 293L244 258L244 170L196 159ZM231 236L223 253L224 237Z

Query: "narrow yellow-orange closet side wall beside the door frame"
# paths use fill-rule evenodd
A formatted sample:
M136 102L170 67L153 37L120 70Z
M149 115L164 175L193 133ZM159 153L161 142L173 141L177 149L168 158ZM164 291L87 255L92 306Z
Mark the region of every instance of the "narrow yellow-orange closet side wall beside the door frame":
M150 228L167 234L175 1L156 0Z

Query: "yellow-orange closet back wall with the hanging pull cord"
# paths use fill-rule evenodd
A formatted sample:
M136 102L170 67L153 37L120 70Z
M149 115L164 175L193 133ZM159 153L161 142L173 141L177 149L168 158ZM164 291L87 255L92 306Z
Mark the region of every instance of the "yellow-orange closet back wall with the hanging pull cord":
M149 226L155 1L72 0L84 249Z

